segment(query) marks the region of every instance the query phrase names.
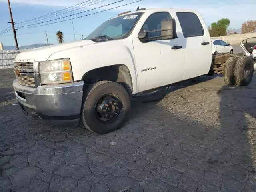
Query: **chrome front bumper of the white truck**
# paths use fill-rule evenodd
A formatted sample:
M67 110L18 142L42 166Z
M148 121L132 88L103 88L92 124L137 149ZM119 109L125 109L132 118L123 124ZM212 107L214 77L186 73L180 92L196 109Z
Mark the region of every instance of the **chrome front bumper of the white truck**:
M80 119L83 81L31 88L14 80L12 85L26 114L46 120Z

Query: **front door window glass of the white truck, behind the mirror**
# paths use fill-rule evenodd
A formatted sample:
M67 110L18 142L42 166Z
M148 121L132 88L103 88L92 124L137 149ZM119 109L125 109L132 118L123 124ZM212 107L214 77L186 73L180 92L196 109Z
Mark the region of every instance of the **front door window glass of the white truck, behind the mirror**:
M148 17L144 25L142 26L142 30L154 30L161 29L161 21L164 19L170 19L171 15L168 12L159 12L154 13ZM156 37L161 36L161 32L148 32L148 37Z

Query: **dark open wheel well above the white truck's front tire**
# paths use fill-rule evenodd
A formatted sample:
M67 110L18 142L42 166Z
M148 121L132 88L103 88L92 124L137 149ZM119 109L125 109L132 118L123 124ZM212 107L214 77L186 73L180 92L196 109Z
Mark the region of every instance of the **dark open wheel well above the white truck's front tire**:
M82 80L85 88L98 81L113 81L122 85L129 95L132 94L132 76L125 65L111 65L86 72Z

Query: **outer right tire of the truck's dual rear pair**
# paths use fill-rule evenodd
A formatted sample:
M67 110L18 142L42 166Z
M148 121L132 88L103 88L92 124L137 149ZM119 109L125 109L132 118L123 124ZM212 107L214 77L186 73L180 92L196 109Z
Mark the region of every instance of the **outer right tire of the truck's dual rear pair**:
M250 56L238 58L234 66L234 79L236 85L248 85L252 80L253 72L253 61Z

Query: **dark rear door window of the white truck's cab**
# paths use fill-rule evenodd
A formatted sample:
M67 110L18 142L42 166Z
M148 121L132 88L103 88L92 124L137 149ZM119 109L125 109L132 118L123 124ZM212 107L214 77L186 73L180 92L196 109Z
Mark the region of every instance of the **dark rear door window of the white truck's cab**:
M202 24L195 13L176 12L176 15L180 22L183 36L185 38L204 35L204 29L202 27Z

